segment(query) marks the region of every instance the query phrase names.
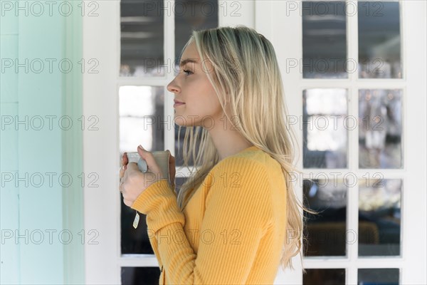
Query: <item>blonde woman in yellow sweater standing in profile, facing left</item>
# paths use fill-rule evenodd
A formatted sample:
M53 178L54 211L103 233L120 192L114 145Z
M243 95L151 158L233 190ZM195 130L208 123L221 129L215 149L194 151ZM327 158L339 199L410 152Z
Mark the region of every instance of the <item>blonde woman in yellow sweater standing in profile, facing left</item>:
M190 127L184 165L193 155L200 167L178 195L141 146L156 179L126 154L120 170L125 204L147 214L160 284L273 284L278 266L292 267L300 252L302 217L272 44L245 26L193 31L167 88L181 102L175 123ZM174 157L169 162L174 181Z

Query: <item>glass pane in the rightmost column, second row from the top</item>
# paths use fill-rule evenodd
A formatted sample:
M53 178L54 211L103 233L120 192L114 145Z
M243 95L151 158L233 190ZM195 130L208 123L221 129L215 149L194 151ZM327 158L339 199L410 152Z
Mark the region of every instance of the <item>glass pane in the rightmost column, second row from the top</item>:
M359 90L359 167L401 168L401 90Z

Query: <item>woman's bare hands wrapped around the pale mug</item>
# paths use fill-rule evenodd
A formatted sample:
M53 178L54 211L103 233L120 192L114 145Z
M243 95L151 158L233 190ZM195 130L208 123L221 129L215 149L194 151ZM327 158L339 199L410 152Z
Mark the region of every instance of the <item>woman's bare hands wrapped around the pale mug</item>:
M123 202L127 207L131 207L137 197L146 190L149 185L164 179L162 171L154 160L152 153L144 150L140 145L137 151L139 156L147 162L148 172L141 172L135 162L128 162L126 152L123 153L119 190L122 192ZM169 159L169 165L170 163L171 160Z

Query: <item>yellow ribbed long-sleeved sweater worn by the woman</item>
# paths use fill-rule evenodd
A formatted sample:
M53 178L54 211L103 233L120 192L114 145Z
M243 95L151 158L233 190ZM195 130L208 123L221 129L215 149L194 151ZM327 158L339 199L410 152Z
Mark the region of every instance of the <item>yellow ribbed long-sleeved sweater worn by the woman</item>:
M273 284L286 225L280 164L258 147L218 162L180 211L167 180L132 204L147 214L159 284Z

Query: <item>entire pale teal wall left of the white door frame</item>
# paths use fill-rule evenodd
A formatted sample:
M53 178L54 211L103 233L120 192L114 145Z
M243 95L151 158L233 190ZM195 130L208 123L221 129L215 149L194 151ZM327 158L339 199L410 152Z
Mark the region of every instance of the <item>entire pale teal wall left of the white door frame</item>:
M77 125L82 19L80 13L64 16L55 9L53 15L26 13L32 1L7 1L24 7L9 11L5 2L0 3L1 284L83 284ZM78 11L80 1L56 5L60 2ZM10 60L12 68L5 68ZM14 237L6 239L10 233Z

